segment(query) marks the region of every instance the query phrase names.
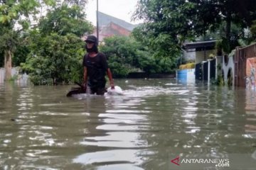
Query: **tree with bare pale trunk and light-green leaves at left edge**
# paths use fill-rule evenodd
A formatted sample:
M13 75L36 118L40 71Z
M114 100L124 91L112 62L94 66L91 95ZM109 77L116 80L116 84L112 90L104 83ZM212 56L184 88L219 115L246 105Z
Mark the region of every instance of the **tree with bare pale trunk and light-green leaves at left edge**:
M42 2L53 5L53 0L13 0L0 1L0 49L4 51L5 79L11 79L11 59L18 45L21 30L26 30L31 23L29 16L35 16ZM18 29L18 26L20 28Z

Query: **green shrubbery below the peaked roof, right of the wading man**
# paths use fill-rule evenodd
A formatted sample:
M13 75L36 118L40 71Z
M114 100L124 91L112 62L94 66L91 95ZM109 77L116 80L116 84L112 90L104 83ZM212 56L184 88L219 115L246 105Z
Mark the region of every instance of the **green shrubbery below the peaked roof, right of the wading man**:
M172 71L169 58L155 58L148 47L132 37L105 38L100 50L107 56L114 77L127 77L130 72L150 74Z

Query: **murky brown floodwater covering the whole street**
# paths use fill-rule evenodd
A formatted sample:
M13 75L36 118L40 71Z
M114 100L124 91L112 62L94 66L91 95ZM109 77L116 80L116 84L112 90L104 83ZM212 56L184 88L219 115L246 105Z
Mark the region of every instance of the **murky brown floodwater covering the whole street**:
M115 84L124 96L0 84L0 169L256 169L256 91Z

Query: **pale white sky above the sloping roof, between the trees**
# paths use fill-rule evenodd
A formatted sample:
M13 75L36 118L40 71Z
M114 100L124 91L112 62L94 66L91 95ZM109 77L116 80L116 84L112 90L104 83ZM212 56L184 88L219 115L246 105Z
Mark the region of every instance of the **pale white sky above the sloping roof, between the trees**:
M142 21L131 21L132 13L135 11L138 0L98 0L98 8L102 13L122 19L128 23L142 23ZM87 20L96 26L97 0L88 0L85 6Z

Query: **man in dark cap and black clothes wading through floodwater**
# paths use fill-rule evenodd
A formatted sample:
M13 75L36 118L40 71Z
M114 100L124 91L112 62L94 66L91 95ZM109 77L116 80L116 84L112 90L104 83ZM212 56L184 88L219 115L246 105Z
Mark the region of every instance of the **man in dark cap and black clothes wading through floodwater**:
M90 94L104 95L106 92L106 73L110 80L110 87L114 89L114 81L110 68L107 65L106 56L98 52L97 38L94 35L88 35L85 40L87 54L83 57L82 65L84 67L83 88L90 88Z

